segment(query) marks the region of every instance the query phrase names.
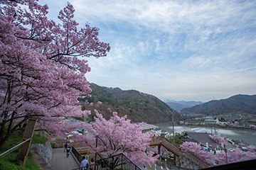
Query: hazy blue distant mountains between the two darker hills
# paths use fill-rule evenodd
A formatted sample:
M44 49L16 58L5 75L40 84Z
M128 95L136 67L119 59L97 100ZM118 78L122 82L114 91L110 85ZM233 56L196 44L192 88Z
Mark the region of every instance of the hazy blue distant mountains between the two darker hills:
M191 107L196 106L201 103L203 103L203 102L201 102L201 101L173 101L173 100L166 101L166 104L168 104L171 108L173 108L175 111L178 111L178 112L180 112L183 108L191 108Z

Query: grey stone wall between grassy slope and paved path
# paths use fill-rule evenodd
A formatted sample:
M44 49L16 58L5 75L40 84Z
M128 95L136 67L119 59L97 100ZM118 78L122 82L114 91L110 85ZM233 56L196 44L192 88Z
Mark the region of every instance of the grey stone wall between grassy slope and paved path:
M53 148L50 145L50 142L46 142L46 145L43 144L34 144L33 148L36 152L43 158L47 166L51 166L51 159L53 157Z

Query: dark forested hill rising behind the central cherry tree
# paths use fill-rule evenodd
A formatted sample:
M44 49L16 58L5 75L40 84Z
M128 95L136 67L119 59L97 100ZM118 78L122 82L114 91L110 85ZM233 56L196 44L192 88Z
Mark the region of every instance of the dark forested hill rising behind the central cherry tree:
M92 111L90 117L95 115L94 109L97 109L107 119L112 115L112 111L117 111L120 116L127 115L133 123L166 123L171 121L170 112L175 114L175 121L181 116L159 98L150 94L135 90L123 91L119 88L108 88L97 84L90 84L90 87L92 96L79 98L82 107Z

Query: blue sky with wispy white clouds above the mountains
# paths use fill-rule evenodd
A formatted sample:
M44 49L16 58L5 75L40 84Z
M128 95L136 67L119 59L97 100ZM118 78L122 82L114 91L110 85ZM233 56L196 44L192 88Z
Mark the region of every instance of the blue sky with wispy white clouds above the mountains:
M68 1L48 4L48 17ZM107 57L89 58L88 81L163 101L256 94L256 3L250 1L70 0L75 20L100 28Z

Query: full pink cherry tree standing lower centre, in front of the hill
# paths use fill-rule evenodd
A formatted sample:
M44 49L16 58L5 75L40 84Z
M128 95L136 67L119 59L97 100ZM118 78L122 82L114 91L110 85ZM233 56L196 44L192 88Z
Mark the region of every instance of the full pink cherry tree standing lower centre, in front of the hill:
M95 122L85 125L95 137L78 136L77 142L87 142L93 148L92 153L104 151L108 157L122 153L137 164L156 162L158 157L152 157L153 152L146 153L152 133L142 133L142 123L132 124L126 115L120 118L116 112L112 113L110 120L105 120L97 111L95 113ZM117 162L112 162L113 168L118 166Z

